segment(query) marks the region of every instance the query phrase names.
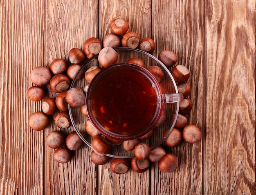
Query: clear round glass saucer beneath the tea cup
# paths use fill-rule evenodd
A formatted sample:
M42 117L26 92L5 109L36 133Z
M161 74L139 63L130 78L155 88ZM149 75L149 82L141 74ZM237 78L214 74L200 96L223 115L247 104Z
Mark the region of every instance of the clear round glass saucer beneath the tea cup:
M159 67L162 70L162 72L164 72L164 78L162 79L161 82L159 82L156 85L156 87L157 88L159 87L160 89L161 93L159 92L159 94L178 94L177 85L173 79L173 76L171 75L171 68L167 68L161 61L155 58L155 56L147 52L143 52L139 49L133 49L128 47L119 47L119 48L115 48L115 50L117 51L117 54L118 54L118 61L121 63L127 62L130 58L139 58L144 62L146 69L148 69L151 66ZM76 80L76 77L79 77L81 72L85 72L87 69L89 69L92 66L100 66L97 58L98 58L98 55L95 55L94 57L90 58L89 60L81 64L82 67L80 71L76 74L75 78L73 79L70 88L79 87L81 89L84 89L85 86L88 85L88 81L86 81L85 78ZM152 79L151 75L149 77ZM152 81L152 82L154 83L155 81ZM156 91L158 93L158 90ZM164 102L164 100L162 100L160 97L158 98L159 98L158 100L161 100ZM166 99L165 101L170 101L170 100ZM154 150L157 146L164 144L163 143L164 140L170 135L177 121L177 116L179 113L179 102L175 102L175 103L163 103L163 102L162 104L160 104L160 107L162 107L161 108L162 113L164 113L165 111L166 120L161 126L155 126L153 128L153 134L151 137L147 139L139 138L139 142L148 143L151 150ZM159 112L161 112L160 108L157 108L157 109L159 109ZM81 114L80 108L72 108L70 107L70 105L68 105L68 111L70 114L70 119L71 119L74 130L76 130L79 137L91 148L92 147L91 143L93 138L85 130L85 123L86 121L89 120L89 117L83 116L83 114ZM157 116L156 118L158 118L159 114L157 114L157 112L155 113ZM132 151L124 150L124 147L122 144L119 144L119 145L112 144L112 150L109 154L107 154L107 156L114 157L114 158L131 158L131 157L134 157L134 153L133 153L133 150Z

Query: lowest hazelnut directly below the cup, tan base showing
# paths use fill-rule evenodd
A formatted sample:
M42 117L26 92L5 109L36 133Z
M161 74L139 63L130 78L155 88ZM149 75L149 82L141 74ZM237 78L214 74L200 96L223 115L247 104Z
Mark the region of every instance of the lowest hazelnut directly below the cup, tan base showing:
M116 174L124 174L129 170L129 168L130 162L128 159L113 159L110 164L111 171Z

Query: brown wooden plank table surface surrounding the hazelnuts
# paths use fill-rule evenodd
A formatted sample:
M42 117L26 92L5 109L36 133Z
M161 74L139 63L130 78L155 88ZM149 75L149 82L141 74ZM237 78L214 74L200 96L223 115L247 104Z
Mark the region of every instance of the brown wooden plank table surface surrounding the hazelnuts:
M255 194L255 13L253 0L0 1L0 194ZM27 98L31 70L102 40L115 18L191 73L187 117L202 140L168 150L179 159L171 174L152 164L117 175L110 163L95 166L86 146L58 164L45 144L58 130L52 120L40 132L28 126L42 103Z

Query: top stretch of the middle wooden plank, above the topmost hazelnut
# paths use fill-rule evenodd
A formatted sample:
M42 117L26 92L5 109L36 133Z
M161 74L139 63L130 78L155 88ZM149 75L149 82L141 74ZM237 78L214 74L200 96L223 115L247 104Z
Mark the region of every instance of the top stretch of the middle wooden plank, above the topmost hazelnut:
M110 22L115 18L124 18L129 23L128 31L136 32L141 39L151 38L151 0L127 0L120 2L99 1L99 37L111 33Z

